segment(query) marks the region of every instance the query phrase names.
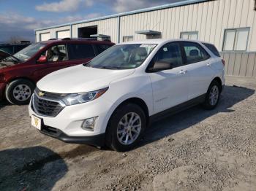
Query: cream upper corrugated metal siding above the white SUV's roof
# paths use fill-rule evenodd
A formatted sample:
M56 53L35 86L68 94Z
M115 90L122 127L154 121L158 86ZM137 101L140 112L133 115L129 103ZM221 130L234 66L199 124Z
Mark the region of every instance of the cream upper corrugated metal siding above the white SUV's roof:
M226 28L250 27L247 51L256 51L256 23L254 0L218 0L182 7L143 12L121 17L121 36L135 36L135 40L146 36L135 31L161 31L163 38L180 37L181 31L198 31L199 39L216 44L222 50Z

